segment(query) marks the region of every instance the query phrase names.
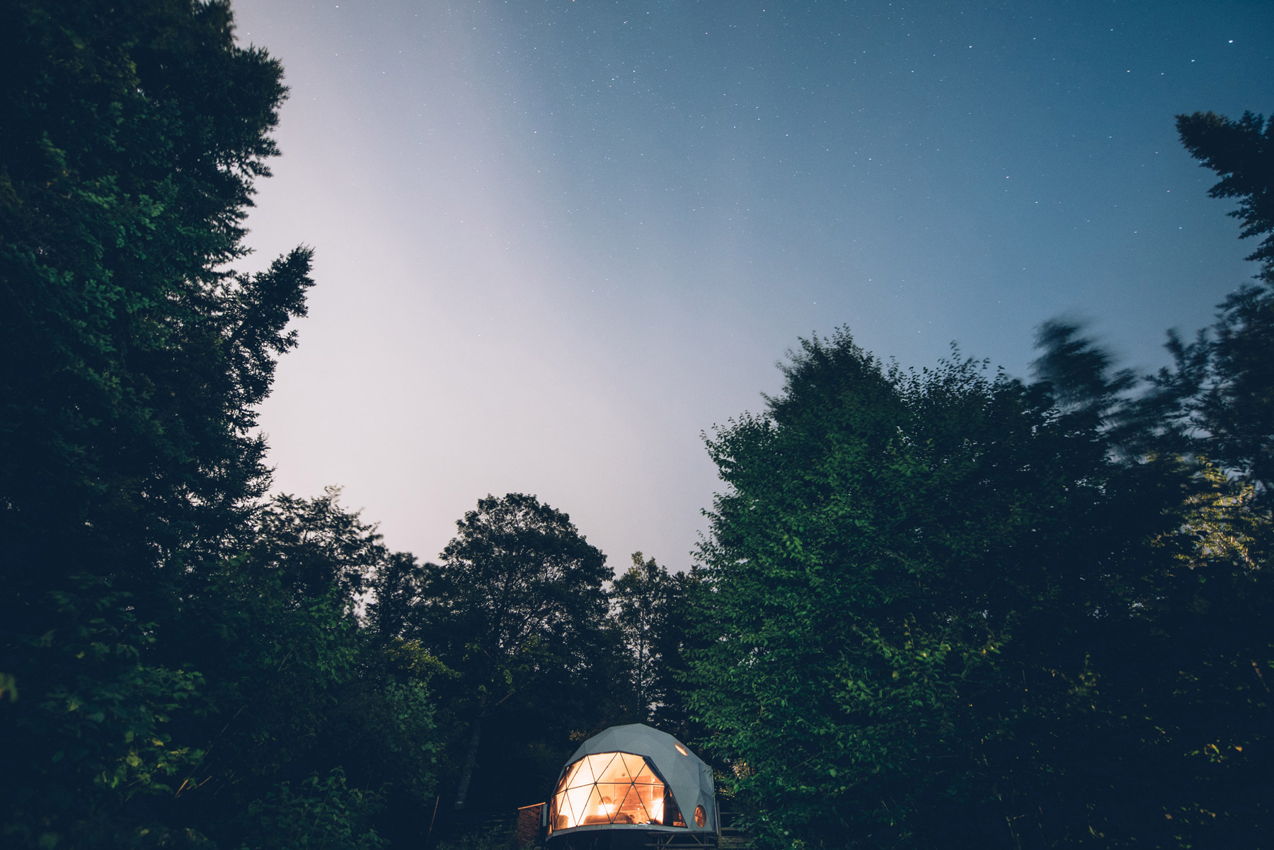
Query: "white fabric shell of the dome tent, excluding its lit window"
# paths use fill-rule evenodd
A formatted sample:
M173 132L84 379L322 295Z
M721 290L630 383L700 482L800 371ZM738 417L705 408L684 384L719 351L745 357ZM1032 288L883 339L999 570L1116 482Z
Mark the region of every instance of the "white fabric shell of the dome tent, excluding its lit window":
M712 783L712 769L691 748L666 732L647 727L643 723L631 723L623 727L610 727L592 735L567 760L563 770L585 756L605 752L627 752L646 756L662 775L673 793L673 799L682 811L684 827L660 825L642 826L578 826L576 830L645 830L660 832L716 832L717 811L716 791ZM703 807L703 826L694 822L694 808Z

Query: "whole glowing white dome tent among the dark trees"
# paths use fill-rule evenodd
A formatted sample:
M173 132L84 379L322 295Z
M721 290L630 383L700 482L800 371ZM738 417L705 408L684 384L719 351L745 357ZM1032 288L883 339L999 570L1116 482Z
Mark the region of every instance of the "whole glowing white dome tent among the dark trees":
M547 826L562 849L716 844L712 769L666 732L610 727L567 760Z

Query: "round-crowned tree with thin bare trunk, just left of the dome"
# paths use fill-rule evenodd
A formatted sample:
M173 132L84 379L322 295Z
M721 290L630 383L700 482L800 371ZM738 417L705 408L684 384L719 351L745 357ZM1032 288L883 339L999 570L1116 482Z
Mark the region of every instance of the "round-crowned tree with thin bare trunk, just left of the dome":
M457 520L441 565L426 565L419 635L461 676L470 719L455 808L464 809L484 724L497 710L587 699L605 654L606 559L571 518L535 496L487 496ZM575 711L575 714L578 714Z

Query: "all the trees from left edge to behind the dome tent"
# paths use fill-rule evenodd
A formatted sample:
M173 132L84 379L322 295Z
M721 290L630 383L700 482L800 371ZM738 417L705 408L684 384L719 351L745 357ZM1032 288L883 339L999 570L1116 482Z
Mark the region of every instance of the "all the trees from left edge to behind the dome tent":
M311 252L228 271L285 95L232 33L218 1L0 4L6 847L420 846L466 793L543 799L586 733L684 720L689 576L612 588L531 496L437 565L335 491L264 499Z

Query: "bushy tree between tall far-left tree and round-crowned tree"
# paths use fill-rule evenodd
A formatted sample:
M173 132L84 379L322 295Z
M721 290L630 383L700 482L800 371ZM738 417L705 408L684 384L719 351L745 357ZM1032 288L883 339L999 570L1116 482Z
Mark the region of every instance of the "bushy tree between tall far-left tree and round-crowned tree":
M254 532L191 579L157 648L200 671L204 710L175 724L199 753L150 814L223 846L418 841L437 781L432 681L446 669L357 611L363 576L395 556L334 489L275 498ZM303 835L288 822L299 811Z

